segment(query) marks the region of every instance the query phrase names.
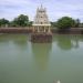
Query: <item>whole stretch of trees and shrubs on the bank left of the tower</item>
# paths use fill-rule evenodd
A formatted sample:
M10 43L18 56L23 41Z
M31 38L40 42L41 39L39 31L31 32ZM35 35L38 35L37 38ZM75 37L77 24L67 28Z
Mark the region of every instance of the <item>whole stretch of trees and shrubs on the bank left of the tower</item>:
M14 18L12 21L9 21L7 19L0 19L0 27L7 28L7 27L31 27L32 21L29 21L29 17L24 14L20 14L17 18Z

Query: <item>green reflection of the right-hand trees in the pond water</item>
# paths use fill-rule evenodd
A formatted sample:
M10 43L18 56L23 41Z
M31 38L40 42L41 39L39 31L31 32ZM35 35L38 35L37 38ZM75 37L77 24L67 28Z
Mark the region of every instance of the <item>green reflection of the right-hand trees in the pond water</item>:
M53 42L62 50L71 50L79 48L79 35L54 35Z

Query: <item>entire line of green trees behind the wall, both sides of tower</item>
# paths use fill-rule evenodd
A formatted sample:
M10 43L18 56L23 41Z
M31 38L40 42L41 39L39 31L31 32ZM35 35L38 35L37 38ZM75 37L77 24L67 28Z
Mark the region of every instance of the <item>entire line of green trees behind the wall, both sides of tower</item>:
M70 28L83 28L83 23L80 22L80 19L73 19L70 17L62 17L56 22L51 22L52 28L58 29L70 29ZM29 20L28 15L20 14L14 18L12 21L7 19L0 19L0 28L4 27L32 27L32 21Z

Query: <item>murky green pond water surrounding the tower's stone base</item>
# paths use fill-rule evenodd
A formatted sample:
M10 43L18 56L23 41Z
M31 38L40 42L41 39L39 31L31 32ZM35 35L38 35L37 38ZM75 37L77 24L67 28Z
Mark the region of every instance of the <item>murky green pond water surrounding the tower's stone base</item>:
M0 83L83 83L83 35L53 35L31 43L28 34L0 34Z

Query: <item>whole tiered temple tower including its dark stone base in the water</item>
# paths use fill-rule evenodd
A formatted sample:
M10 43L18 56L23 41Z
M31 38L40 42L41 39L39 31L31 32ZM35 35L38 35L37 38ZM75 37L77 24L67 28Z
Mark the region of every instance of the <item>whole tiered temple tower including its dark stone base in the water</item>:
M42 6L37 9L37 14L32 25L32 42L52 42L51 23L46 15L46 9Z

